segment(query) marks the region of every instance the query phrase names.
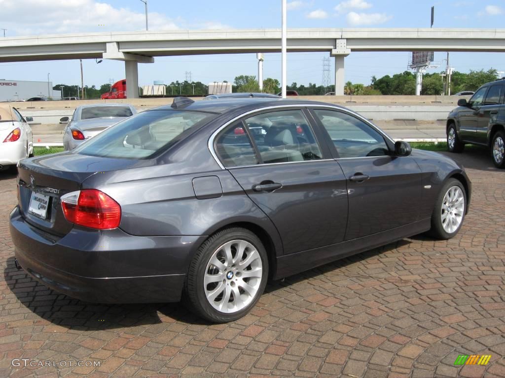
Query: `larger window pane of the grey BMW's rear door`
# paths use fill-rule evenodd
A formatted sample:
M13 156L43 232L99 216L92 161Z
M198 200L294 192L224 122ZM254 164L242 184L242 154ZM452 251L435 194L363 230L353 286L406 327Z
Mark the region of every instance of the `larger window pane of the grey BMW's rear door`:
M263 163L319 160L321 150L301 110L282 110L245 119Z

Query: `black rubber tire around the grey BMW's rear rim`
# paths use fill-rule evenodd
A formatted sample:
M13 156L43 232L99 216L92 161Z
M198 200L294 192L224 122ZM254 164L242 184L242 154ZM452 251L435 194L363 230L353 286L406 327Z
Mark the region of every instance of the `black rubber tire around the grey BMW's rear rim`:
M254 278L254 286L257 287L257 291L255 295L248 295L243 289L241 289L240 286L240 276L237 271L235 271L235 276L232 275L232 278L228 278L226 276L226 272L229 273L230 270L233 268L226 268L223 269L223 274L221 277L223 277L223 289L219 295L216 296L215 299L220 299L219 301L214 301L213 303L215 305L218 305L219 303L225 303L225 293L226 290L228 290L228 296L229 299L226 301L226 306L229 306L229 303L235 305L235 298L234 298L234 292L231 292L232 290L241 290L241 294L239 294L240 297L242 297L242 294L244 294L246 297L248 295L247 302L248 304L245 305L243 308L238 309L238 310L229 310L230 312L224 312L220 311L217 308L215 308L211 302L210 299L207 298L206 295L206 290L213 291L218 289L217 286L221 287L221 281L218 280L216 282L210 283L207 286L204 285L204 277L208 271L209 272L214 270L218 271L218 268L212 268L213 266L210 264L211 258L214 256L214 254L218 254L216 256L220 256L219 254L222 253L224 249L221 247L225 245L226 243L230 243L232 241L239 240L239 241L245 241L246 243L250 243L252 247L255 248L255 250L259 254L259 259L258 257L256 258L256 263L259 264L259 261L261 261L261 279L260 278ZM233 249L235 246L235 249ZM235 244L231 245L231 253L233 254L233 250L235 250L233 259L237 258L237 248ZM221 251L221 252L220 252ZM249 248L244 249L244 255L243 259L241 261L245 261L247 257L249 256ZM252 256L252 255L251 255ZM224 258L223 256L220 256L220 259ZM232 259L232 260L233 260ZM221 260L220 260L221 261ZM222 261L221 261L222 262ZM222 262L223 263L223 262ZM235 262L236 263L236 262ZM225 266L227 263L226 261L223 263L223 266ZM238 265L238 264L237 264ZM235 267L235 264L233 264L232 267ZM249 266L247 266L249 267ZM249 267L251 268L252 265ZM265 250L265 247L263 246L263 243L261 240L256 236L254 233L251 231L244 229L244 228L238 228L238 227L233 227L233 228L227 228L224 230L221 230L211 237L209 237L197 250L195 256L193 257L193 260L191 261L191 264L189 265L188 269L188 274L186 276L186 282L184 285L184 303L190 310L193 310L196 312L200 317L211 321L213 323L226 323L226 322L232 322L237 319L242 318L249 310L255 306L256 302L258 302L258 299L260 299L261 294L265 290L265 286L267 285L267 280L268 280L268 257L267 257L267 252ZM251 268L252 270L252 268ZM219 273L218 273L219 274ZM233 281L237 281L237 283ZM244 279L245 280L245 279ZM251 279L248 278L247 281L242 281L242 282L252 282L250 281ZM212 286L216 284L216 286ZM228 288L224 287L228 285ZM233 288L231 286L233 286ZM235 286L236 285L236 286ZM219 292L220 289L216 290L216 292ZM231 292L231 294L229 294ZM233 297L233 299L232 299ZM238 302L240 302L239 300Z

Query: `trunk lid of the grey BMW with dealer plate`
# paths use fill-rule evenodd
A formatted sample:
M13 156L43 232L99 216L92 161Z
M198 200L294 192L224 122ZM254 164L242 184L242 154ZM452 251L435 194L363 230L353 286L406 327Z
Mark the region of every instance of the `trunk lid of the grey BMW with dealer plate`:
M61 196L80 190L84 180L97 172L126 169L138 163L133 159L103 158L70 151L21 160L18 166L20 213L34 227L64 236L74 225L63 214Z

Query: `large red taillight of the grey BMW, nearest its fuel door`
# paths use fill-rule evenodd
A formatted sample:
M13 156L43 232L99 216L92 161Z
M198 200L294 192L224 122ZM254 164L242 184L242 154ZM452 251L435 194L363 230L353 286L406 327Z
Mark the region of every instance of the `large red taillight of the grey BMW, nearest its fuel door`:
M61 198L65 218L80 226L105 230L121 221L121 206L96 189L68 193Z

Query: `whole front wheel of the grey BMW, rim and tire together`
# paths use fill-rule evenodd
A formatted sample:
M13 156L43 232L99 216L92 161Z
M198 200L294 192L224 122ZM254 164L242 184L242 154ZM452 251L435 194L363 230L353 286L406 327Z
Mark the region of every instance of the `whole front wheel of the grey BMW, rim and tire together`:
M465 219L467 196L461 181L450 178L438 195L431 216L430 233L437 239L450 239L458 233Z

